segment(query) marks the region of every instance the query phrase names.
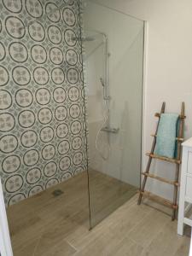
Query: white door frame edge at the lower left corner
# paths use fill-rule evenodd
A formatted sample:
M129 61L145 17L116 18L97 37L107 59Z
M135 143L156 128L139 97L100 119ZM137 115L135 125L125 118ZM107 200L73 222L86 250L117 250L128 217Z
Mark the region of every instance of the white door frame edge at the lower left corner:
M4 204L3 189L0 177L0 253L1 256L13 256L11 247L9 225Z

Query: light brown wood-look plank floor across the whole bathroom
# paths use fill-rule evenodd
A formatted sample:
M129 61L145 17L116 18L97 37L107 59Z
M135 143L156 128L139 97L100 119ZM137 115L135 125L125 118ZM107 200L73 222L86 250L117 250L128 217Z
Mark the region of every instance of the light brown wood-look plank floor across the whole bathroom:
M95 200L100 203L92 209L92 214L98 218L103 202L106 203L102 198L111 187L103 181L108 177L92 174L90 182L93 185L95 181L96 187L91 193L97 191ZM54 189L8 208L15 256L187 256L189 253L189 237L177 236L177 222L154 206L137 206L137 195L89 231L86 173L57 185L56 189L62 189L64 194L54 197L51 194ZM119 193L124 189L121 185ZM116 201L117 192L108 198ZM114 206L117 205L115 202Z

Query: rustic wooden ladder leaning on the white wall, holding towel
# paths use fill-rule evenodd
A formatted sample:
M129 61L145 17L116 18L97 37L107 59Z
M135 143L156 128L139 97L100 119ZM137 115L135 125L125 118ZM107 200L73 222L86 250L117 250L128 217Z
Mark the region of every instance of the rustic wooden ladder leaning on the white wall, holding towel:
M179 120L178 137L176 137L177 158L167 158L167 157L164 157L164 156L154 154L154 148L155 148L155 145L156 145L157 131L158 131L158 127L159 127L159 124L160 124L160 115L161 115L161 113L165 113L165 108L166 108L166 102L163 102L160 113L155 113L155 117L158 117L159 120L158 120L158 124L157 124L157 127L156 127L156 131L155 131L154 135L152 135L152 137L154 137L154 142L152 144L151 152L147 154L148 155L148 165L146 167L146 171L142 172L144 177L143 177L142 187L139 191L138 205L141 204L143 196L148 197L150 200L157 201L160 204L166 205L166 207L172 207L172 220L174 220L176 218L176 211L177 211L177 207L178 207L177 206L177 189L178 189L178 186L179 186L178 178L179 178L179 169L180 169L180 165L181 165L181 143L183 142L183 127L184 127L184 119L185 119L184 102L182 102L181 114L178 116L178 118L180 120ZM153 159L164 160L164 161L168 161L168 162L176 164L175 180L171 181L171 180L168 180L164 177L158 177L158 176L155 176L152 173L149 173L149 169L150 169L151 162L152 162ZM148 177L155 178L156 180L158 180L160 182L168 183L170 185L173 185L174 186L173 201L166 200L165 198L162 198L158 195L153 195L152 193L144 190Z

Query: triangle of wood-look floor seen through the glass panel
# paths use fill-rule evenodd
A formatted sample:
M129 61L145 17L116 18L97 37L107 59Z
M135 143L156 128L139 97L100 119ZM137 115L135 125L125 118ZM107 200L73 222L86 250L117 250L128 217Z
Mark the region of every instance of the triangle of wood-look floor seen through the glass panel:
M89 180L91 227L136 195L138 190L128 183L94 170L89 171Z

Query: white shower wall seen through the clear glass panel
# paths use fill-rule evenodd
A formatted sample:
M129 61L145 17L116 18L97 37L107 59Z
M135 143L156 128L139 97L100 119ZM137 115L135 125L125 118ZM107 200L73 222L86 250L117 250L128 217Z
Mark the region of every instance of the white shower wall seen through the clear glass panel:
M99 17L99 19L98 19ZM143 88L143 21L90 3L84 9L85 29L104 32L108 36L108 78L110 100L110 127L119 128L110 134L108 160L96 152L96 132L101 125L105 108L102 98L103 44L96 40L85 44L85 51L94 53L86 61L88 89L88 123L90 167L126 183L139 186L142 131ZM87 32L86 32L87 34ZM90 32L88 33L90 36ZM102 107L102 108L101 108ZM108 154L108 137L99 136L98 147Z

